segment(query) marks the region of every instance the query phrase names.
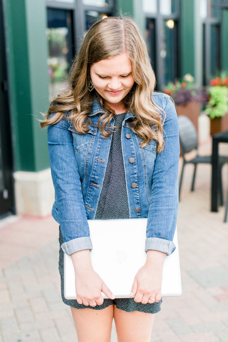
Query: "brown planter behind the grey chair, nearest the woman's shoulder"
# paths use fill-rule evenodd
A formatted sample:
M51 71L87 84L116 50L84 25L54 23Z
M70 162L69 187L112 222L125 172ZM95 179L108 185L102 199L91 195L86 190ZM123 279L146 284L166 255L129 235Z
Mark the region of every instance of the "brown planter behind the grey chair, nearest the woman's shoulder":
M176 104L175 107L176 107L177 116L178 115L187 116L193 122L198 132L198 117L200 115L201 102L192 101L192 102L188 102L185 105Z

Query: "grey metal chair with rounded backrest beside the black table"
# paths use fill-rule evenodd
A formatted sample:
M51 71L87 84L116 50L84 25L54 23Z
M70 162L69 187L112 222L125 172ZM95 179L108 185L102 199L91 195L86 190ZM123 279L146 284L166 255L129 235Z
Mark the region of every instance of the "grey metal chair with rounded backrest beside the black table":
M194 172L192 177L191 191L194 190L195 177L196 177L196 168L198 163L206 163L212 164L212 156L200 156L198 154L198 144L197 144L197 132L196 128L193 125L192 121L184 115L178 116L178 124L179 124L179 139L180 146L183 151L183 166L182 171L180 173L180 181L179 181L179 198L180 198L180 190L182 186L184 167L186 164L194 164ZM191 152L192 150L196 150L196 157L190 160L185 159L186 153ZM219 156L219 184L220 184L220 196L221 196L221 205L223 205L223 187L222 187L222 167L225 163L228 163L228 157Z

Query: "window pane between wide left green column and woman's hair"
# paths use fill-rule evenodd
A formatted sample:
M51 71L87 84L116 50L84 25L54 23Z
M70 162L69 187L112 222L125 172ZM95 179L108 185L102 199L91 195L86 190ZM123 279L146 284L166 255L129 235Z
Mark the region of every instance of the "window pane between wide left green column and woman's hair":
M49 44L48 72L51 100L57 90L66 87L65 80L74 54L71 11L48 9L46 34Z

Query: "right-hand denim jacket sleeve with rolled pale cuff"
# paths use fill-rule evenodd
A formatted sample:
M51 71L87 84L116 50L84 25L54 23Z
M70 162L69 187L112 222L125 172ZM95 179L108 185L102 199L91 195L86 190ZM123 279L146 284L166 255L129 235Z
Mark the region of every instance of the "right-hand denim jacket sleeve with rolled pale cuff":
M147 250L158 250L170 255L176 228L178 209L179 131L175 106L165 97L164 149L157 153L153 175L152 195L147 221Z

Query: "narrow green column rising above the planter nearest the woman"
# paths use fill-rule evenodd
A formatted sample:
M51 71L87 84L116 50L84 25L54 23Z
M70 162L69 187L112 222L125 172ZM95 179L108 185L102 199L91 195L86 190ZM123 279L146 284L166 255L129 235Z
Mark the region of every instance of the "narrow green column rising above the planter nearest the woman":
M180 46L182 76L189 73L195 77L194 56L194 0L181 0Z

